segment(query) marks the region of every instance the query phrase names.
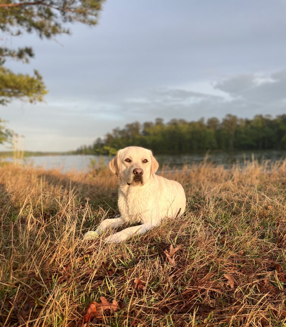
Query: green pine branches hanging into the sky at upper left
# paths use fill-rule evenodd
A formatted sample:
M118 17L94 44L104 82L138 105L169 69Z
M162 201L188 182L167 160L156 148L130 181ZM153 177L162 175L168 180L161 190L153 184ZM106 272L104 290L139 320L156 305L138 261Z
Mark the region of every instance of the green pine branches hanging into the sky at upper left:
M3 35L18 36L23 32L51 38L69 33L67 23L97 23L103 0L4 0L0 2L0 30ZM34 56L31 47L9 49L0 47L0 104L12 99L42 101L47 93L41 75L16 74L4 67L8 59L28 63Z

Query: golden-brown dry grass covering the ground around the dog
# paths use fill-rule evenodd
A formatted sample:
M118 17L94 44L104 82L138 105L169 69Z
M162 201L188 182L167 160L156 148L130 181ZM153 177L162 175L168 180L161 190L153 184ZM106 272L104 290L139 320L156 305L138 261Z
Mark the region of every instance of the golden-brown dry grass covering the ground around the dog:
M120 245L82 241L118 213L108 170L0 168L0 325L79 326L104 296L120 307L105 326L285 326L286 162L191 168L162 172L186 190L183 217Z

